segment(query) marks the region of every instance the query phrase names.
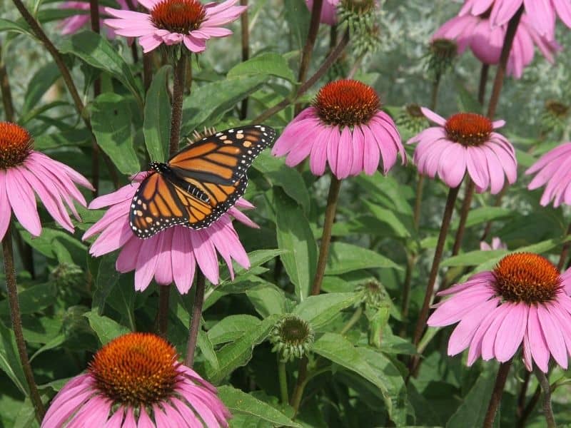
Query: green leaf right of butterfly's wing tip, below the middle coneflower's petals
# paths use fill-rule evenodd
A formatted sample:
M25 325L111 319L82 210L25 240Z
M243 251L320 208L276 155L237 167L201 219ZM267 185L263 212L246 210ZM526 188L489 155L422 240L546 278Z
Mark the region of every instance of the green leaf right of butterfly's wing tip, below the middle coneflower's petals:
M290 198L303 207L305 213L309 212L309 190L298 170L289 168L283 161L271 156L269 151L260 153L253 168L260 171L271 185L280 186Z

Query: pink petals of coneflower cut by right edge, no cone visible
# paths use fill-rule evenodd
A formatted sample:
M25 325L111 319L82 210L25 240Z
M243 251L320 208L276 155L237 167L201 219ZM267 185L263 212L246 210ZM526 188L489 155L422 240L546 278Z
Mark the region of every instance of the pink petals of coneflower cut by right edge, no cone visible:
M535 178L527 185L530 190L540 188L547 183L540 204L545 206L553 201L557 208L561 203L571 205L571 142L552 148L539 161L525 171Z

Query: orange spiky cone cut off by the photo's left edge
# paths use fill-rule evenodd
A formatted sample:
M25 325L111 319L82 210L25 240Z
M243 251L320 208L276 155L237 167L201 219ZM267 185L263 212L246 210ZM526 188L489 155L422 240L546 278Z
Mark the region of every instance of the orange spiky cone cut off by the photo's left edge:
M16 123L0 122L0 169L23 163L33 147L28 131Z

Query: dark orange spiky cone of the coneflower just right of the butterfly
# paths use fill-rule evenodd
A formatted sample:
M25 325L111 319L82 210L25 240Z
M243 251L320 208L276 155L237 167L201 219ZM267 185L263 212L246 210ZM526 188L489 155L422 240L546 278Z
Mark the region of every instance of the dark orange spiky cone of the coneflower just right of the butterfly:
M326 84L315 97L313 106L328 125L358 126L377 113L380 101L373 88L354 80Z

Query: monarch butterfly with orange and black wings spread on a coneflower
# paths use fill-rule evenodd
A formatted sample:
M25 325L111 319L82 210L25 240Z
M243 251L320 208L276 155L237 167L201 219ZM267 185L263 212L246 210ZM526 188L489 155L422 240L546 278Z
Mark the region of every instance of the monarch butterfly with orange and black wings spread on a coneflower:
M246 170L274 138L268 126L232 128L149 163L131 203L131 230L146 239L174 225L207 228L244 194Z

